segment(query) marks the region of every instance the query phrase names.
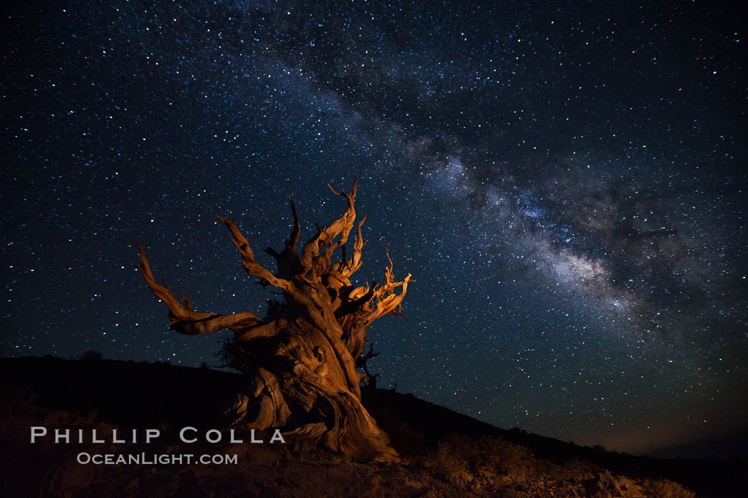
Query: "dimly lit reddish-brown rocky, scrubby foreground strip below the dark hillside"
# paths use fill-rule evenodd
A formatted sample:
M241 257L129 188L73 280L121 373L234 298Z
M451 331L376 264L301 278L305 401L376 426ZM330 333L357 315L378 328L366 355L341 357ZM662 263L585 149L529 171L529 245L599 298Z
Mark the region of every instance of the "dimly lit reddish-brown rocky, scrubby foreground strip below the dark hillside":
M88 417L49 412L43 423L75 424L111 434ZM4 441L7 496L40 497L693 497L675 482L616 475L585 461L552 464L523 446L496 439L441 443L402 464L349 461L302 441L286 445L71 443L31 446L13 430ZM170 435L168 429L165 434ZM263 435L257 435L263 438ZM7 444L10 443L10 444ZM468 444L469 446L457 446ZM145 464L81 464L79 455L144 453ZM150 455L223 455L221 464L159 464ZM13 455L12 458L8 458ZM85 457L87 460L89 456ZM116 458L116 457L115 457ZM154 463L156 462L156 463Z

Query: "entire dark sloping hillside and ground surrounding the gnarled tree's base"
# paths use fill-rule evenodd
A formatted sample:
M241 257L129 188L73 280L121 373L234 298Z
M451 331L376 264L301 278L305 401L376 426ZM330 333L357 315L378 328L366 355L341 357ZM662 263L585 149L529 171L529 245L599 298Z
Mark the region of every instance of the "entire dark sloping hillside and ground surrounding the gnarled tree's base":
M236 376L212 370L56 358L0 361L0 473L8 497L718 497L745 496L741 462L663 461L503 431L392 391L367 403L403 457L351 461L303 440L204 441ZM418 423L417 421L420 421ZM180 428L199 441L180 441ZM30 443L30 427L73 428ZM143 442L144 428L161 436ZM76 431L84 430L83 443ZM91 429L105 443L91 442ZM138 440L112 443L138 429ZM250 435L236 435L249 441ZM222 464L80 464L82 453L236 455ZM195 457L197 458L197 457ZM678 482L676 482L678 481Z

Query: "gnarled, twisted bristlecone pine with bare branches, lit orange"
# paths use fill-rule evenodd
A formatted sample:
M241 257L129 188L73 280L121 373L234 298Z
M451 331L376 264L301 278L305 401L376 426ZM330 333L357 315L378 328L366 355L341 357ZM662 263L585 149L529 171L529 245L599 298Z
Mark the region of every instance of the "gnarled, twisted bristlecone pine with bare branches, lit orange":
M329 186L329 185L328 185ZM355 287L351 276L361 267L364 239L358 222L353 255L346 259L346 241L355 225L351 193L337 195L348 209L331 225L319 228L297 251L301 231L292 199L293 228L282 252L268 248L278 271L272 273L254 260L254 252L233 220L218 217L231 232L246 272L283 291L284 301L264 320L249 311L221 315L193 311L190 300L178 301L164 281L153 278L142 246L143 277L151 292L169 310L169 326L180 334L210 334L221 329L234 333L233 343L253 354L253 381L248 405L240 408L242 424L254 429L280 428L328 449L354 458L397 461L389 438L361 405L361 384L367 376L357 369L372 353L363 355L367 329L384 315L401 315L402 298L411 276L395 281L393 264L384 273L384 283ZM341 249L340 258L334 252ZM387 255L389 259L389 255ZM401 287L399 293L397 288Z

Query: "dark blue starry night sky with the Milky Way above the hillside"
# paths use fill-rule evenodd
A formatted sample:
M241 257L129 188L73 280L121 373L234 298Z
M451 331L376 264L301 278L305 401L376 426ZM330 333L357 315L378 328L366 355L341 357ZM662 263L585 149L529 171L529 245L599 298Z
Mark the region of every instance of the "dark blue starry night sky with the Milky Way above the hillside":
M218 365L231 333L169 331L134 243L263 316L215 215L282 249L288 196L306 240L358 177L358 283L387 250L417 278L380 387L628 452L745 429L741 16L424 3L4 7L0 355Z

